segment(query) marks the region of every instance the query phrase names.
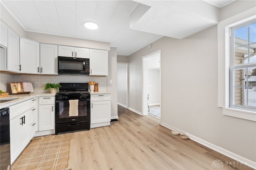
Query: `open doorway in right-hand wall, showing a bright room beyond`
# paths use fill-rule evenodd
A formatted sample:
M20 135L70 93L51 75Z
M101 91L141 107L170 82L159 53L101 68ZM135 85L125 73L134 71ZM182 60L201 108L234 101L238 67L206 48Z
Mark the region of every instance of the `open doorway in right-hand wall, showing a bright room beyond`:
M161 50L142 57L142 115L161 118Z

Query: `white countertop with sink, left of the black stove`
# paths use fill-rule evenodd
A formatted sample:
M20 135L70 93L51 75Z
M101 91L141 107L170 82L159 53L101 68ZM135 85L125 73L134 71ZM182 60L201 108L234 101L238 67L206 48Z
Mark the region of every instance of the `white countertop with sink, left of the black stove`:
M4 107L10 107L12 105L16 105L17 103L33 99L34 97L41 97L41 96L55 96L55 93L30 93L24 95L9 95L8 97L2 97L0 100L8 100L14 99L11 101L7 101L4 103L0 103L0 109Z

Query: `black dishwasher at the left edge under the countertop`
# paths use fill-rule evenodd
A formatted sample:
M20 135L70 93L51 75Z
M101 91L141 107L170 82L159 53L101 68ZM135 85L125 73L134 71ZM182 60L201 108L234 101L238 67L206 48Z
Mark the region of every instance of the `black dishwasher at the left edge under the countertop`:
M0 109L0 169L9 170L10 157L10 115L9 108Z

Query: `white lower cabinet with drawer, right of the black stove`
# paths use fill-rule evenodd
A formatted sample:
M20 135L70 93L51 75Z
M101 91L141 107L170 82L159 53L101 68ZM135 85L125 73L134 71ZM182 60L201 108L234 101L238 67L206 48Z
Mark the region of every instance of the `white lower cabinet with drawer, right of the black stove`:
M91 128L109 126L110 94L91 94Z

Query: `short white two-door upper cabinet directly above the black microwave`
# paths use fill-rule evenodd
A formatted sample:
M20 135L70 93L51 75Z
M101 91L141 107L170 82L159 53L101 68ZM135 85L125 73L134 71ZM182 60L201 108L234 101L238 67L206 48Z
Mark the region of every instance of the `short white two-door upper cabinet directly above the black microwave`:
M89 49L58 45L58 56L89 58Z

